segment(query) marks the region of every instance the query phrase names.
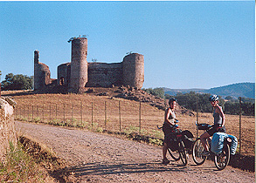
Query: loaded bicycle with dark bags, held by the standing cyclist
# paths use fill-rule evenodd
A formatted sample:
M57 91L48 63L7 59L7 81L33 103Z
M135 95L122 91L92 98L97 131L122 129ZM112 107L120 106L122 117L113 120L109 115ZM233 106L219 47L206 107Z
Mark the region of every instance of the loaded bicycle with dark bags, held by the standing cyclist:
M178 123L178 120L175 120ZM158 126L157 126L158 127ZM161 129L163 127L158 127ZM170 146L168 146L168 152L174 160L182 159L183 166L188 164L187 150L183 142L183 132L178 128L178 125L173 125L171 129Z

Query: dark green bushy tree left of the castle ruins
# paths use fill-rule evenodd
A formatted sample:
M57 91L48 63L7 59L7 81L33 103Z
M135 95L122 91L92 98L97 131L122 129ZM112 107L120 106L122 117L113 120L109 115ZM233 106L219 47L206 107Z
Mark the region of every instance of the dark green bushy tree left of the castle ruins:
M33 88L33 77L27 75L9 73L5 76L5 80L1 82L3 91L13 90L29 90Z

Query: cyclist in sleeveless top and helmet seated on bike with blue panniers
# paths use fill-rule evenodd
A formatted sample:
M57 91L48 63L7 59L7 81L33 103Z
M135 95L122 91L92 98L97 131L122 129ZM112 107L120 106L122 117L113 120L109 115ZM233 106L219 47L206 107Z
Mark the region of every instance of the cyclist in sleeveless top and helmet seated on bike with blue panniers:
M213 107L213 118L214 118L214 125L211 126L211 129L204 132L201 136L201 142L204 146L204 156L208 156L210 154L209 147L206 144L206 139L211 137L215 132L225 132L225 115L222 111L222 107L218 105L218 96L211 95L209 98L211 102L211 106Z

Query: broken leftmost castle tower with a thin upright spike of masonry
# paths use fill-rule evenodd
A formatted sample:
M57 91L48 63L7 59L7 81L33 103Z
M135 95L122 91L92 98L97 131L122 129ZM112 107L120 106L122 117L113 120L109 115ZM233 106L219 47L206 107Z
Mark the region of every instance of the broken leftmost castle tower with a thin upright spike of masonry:
M34 51L34 90L51 83L51 72L46 64L39 63L39 51Z

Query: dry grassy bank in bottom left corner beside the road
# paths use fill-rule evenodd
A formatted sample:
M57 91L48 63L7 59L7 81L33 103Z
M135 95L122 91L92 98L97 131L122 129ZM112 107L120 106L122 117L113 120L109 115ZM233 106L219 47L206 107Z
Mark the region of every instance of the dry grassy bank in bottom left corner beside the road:
M56 182L62 178L53 174L64 162L30 139L20 137L16 146L10 143L0 163L0 182Z

